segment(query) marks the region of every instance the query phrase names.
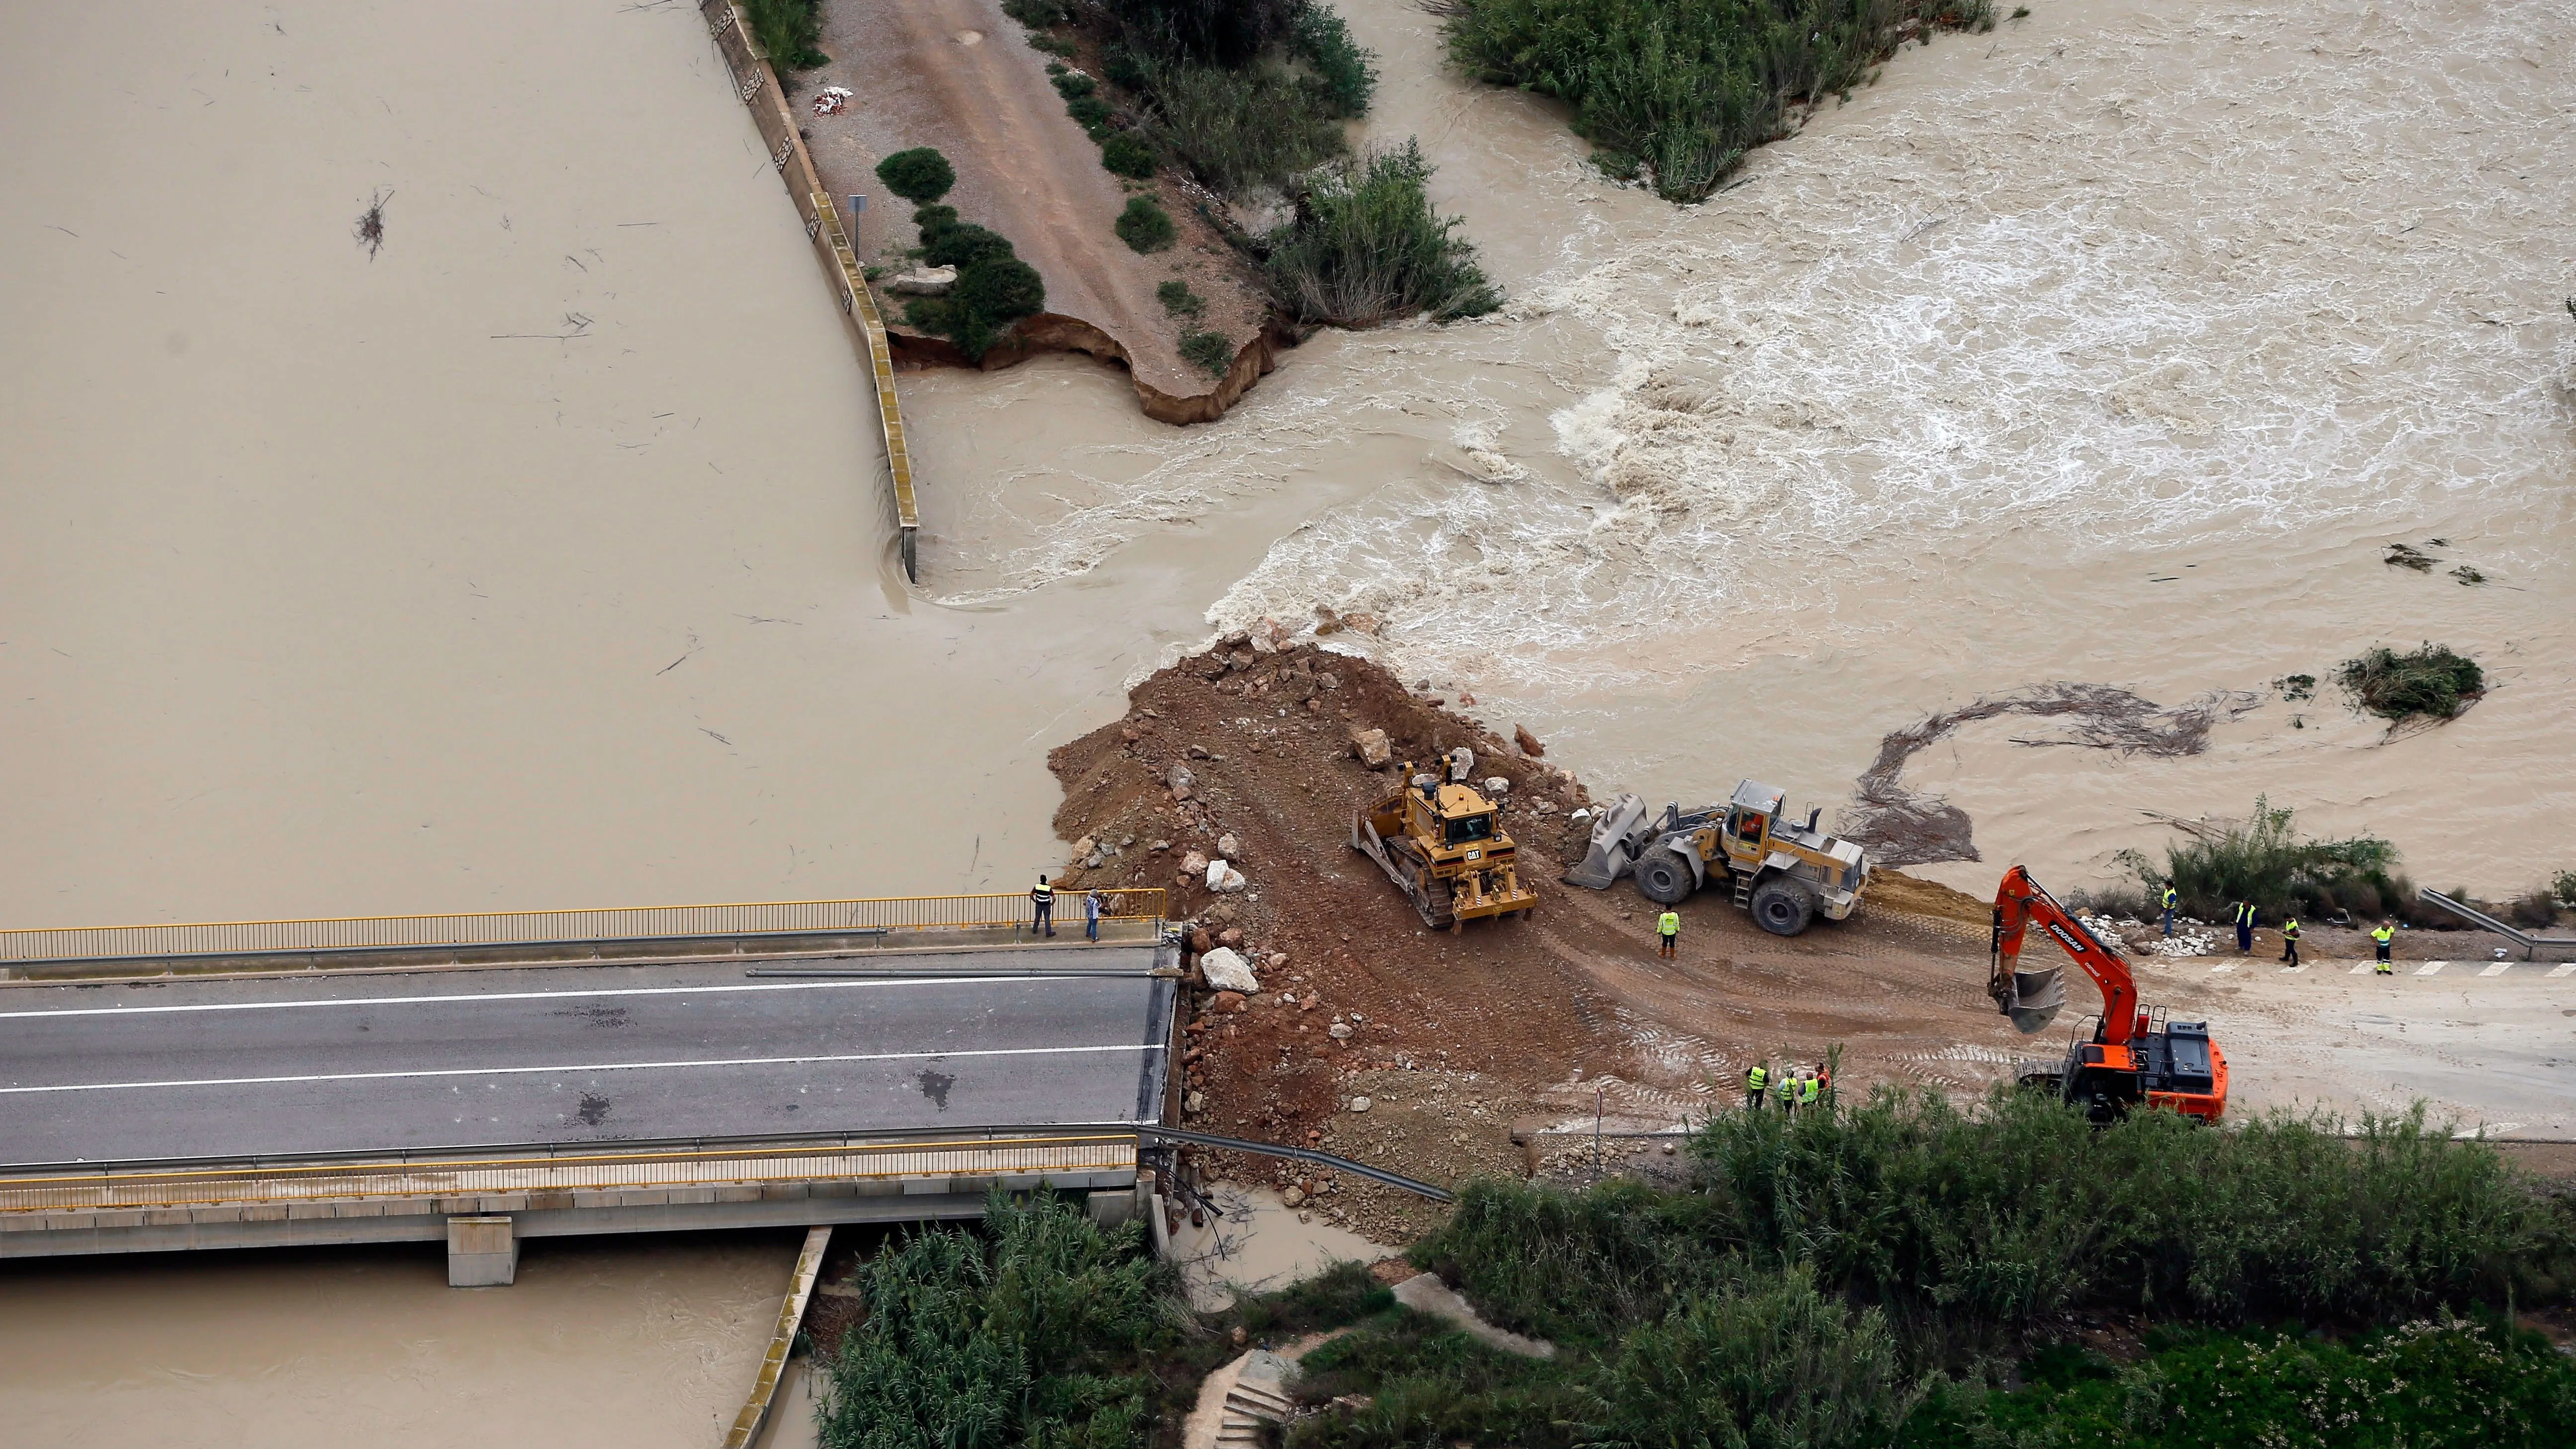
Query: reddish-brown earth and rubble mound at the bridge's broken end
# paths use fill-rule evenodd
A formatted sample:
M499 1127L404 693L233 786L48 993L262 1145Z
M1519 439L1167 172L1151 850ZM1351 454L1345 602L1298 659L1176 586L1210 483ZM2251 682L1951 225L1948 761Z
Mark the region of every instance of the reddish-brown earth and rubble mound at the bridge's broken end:
M1386 732L1381 768L1360 761L1368 730ZM1510 781L1504 830L1540 905L1453 936L1427 931L1350 848L1350 820L1396 789L1406 761L1455 745L1476 753L1473 779ZM1850 923L1777 938L1705 892L1680 908L1680 959L1659 962L1654 908L1633 887L1558 884L1589 841L1571 815L1592 797L1522 745L1540 743L1504 740L1376 663L1242 639L1157 673L1126 719L1048 758L1064 784L1056 833L1077 846L1064 884L1167 887L1193 962L1231 946L1260 975L1249 995L1190 993L1193 1127L1455 1181L1528 1171L1571 1142L1551 1129L1577 1119L1589 1142L1595 1111L1618 1132L1734 1106L1754 1060L1814 1062L1844 1044L1855 1088L1950 1091L2009 1062L2009 1026L1984 998L1981 902L1880 871ZM1216 859L1242 890L1208 890ZM1324 1189L1309 1212L1381 1240L1419 1220L1412 1199L1314 1171L1208 1171Z

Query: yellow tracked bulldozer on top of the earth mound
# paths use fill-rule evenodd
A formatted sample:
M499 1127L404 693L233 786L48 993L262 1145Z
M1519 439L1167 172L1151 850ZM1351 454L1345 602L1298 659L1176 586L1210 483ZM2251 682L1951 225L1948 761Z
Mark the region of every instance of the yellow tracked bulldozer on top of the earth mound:
M1502 807L1466 784L1466 768L1453 763L1461 779L1443 781L1406 763L1404 786L1350 822L1350 848L1378 861L1432 931L1538 905L1538 892L1520 884Z

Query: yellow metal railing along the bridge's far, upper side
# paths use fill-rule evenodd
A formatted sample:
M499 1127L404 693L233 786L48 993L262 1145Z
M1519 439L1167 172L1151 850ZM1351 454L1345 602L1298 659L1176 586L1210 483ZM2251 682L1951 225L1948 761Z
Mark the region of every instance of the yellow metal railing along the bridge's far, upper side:
M1162 920L1164 892L1103 890L1103 920ZM1079 923L1082 895L1056 910ZM636 905L608 910L497 910L469 915L343 915L322 920L204 920L188 926L67 926L0 931L0 964L160 957L263 957L438 946L556 946L721 936L850 936L871 931L976 931L1025 926L1028 895L889 895L873 900L770 900L739 905Z

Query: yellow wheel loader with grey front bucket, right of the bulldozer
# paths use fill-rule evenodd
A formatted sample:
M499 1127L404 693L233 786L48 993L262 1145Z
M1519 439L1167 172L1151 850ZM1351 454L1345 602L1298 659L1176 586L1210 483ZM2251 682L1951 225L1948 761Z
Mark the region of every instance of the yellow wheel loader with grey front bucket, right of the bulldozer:
M1723 884L1739 910L1752 910L1772 936L1795 936L1816 915L1842 920L1860 902L1870 861L1860 846L1816 828L1783 820L1788 794L1759 781L1736 784L1723 804L1646 815L1633 794L1620 794L1592 822L1592 851L1566 871L1566 884L1610 890L1636 874L1636 890L1656 905L1674 905L1703 884Z

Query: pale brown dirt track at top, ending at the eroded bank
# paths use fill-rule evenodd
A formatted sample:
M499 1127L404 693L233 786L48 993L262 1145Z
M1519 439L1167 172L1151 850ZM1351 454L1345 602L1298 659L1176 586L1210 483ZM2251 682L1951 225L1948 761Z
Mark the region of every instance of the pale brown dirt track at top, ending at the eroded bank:
M912 209L886 196L876 162L907 147L938 147L956 165L945 196L958 217L1010 237L1020 260L1046 278L1046 312L1108 333L1141 384L1172 397L1211 392L1211 379L1180 358L1180 327L1154 297L1198 258L1198 224L1175 196L1164 209L1182 240L1139 255L1110 224L1128 193L1100 165L1100 147L1064 113L1046 59L997 0L829 0L822 49L832 64L788 77L796 124L824 180L848 204L868 196L860 260L914 245ZM814 116L811 95L845 85L858 95L837 116ZM1170 183L1162 183L1164 188ZM1221 299L1206 281L1198 291ZM902 317L902 299L894 299ZM1208 317L1226 330L1226 317ZM1234 333L1242 333L1236 327ZM1231 340L1239 335L1229 333Z

